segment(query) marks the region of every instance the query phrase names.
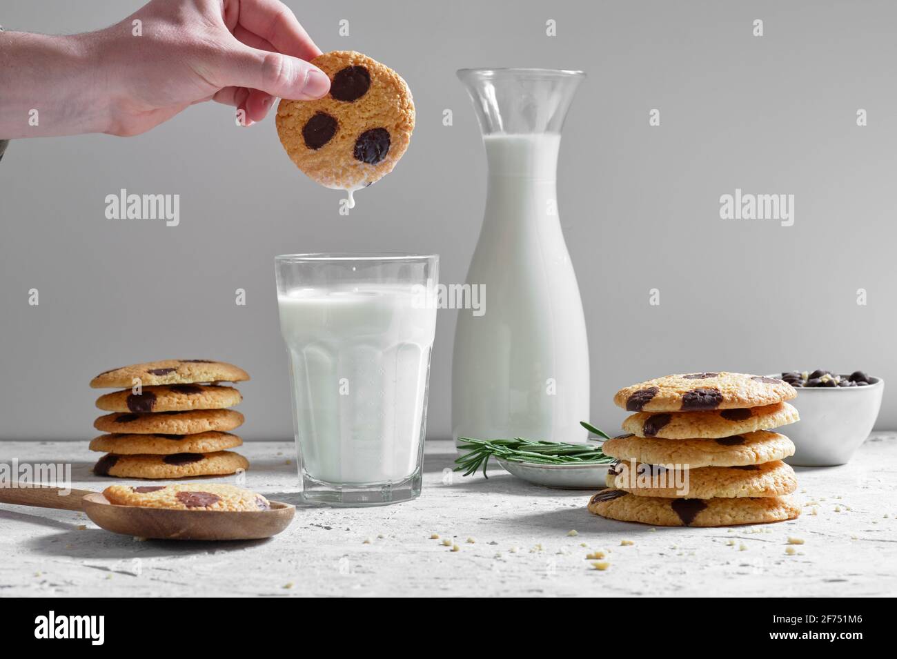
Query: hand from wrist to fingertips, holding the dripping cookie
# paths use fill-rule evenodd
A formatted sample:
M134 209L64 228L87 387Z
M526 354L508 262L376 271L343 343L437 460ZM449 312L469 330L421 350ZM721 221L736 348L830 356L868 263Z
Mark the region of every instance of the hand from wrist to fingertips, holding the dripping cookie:
M106 133L144 133L205 100L242 110L249 126L275 97L318 99L330 89L307 61L320 49L279 0L152 0L97 38L109 81Z

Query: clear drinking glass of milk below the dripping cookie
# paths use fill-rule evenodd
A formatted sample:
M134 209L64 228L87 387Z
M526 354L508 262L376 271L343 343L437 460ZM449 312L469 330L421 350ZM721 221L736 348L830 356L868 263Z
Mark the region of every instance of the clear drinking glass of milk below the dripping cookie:
M274 259L303 499L421 493L439 256Z

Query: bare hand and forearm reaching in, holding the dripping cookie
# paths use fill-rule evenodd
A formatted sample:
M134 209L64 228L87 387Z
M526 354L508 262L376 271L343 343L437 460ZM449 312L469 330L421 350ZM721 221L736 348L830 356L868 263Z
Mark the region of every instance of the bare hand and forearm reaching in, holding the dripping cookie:
M0 137L135 135L216 100L251 125L275 97L330 89L320 49L279 0L152 0L105 30L0 33Z

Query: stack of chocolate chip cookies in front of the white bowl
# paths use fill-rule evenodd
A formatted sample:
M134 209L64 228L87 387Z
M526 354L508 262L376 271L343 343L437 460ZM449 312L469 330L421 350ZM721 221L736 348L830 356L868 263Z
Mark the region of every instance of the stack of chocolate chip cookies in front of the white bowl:
M614 403L634 412L629 434L608 439L617 458L597 515L660 526L728 526L794 519L797 489L783 458L791 440L772 429L798 421L788 383L743 373L689 373L628 386Z

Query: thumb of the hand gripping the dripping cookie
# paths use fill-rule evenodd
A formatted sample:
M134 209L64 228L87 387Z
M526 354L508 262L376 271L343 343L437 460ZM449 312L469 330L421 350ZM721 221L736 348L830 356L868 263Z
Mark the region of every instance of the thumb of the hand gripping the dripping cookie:
M248 87L292 100L313 100L330 91L330 79L299 57L241 47L224 57L216 78L222 87Z

